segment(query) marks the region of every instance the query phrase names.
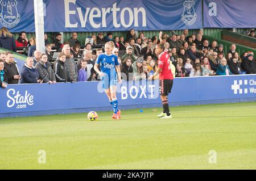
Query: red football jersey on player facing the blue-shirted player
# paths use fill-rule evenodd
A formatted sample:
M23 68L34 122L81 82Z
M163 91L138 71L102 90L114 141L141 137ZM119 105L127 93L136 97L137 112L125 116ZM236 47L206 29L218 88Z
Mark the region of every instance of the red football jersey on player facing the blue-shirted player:
M158 67L162 69L162 71L159 74L159 80L174 79L174 75L172 75L170 66L170 56L168 55L167 52L163 52L159 55Z

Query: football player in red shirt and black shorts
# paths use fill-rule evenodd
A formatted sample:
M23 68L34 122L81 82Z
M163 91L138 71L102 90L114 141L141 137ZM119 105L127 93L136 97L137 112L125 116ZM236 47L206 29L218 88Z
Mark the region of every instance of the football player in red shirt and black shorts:
M158 56L158 69L148 78L148 80L151 81L154 76L159 74L159 92L163 104L163 112L160 113L158 117L161 117L161 119L168 119L172 118L169 110L168 94L171 92L174 76L171 71L170 57L164 49L164 45L156 45L155 52Z

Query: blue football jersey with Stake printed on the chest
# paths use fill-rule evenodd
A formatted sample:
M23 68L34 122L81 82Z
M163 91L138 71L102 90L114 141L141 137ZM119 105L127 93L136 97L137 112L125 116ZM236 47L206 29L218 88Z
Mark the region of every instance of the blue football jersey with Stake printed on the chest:
M115 54L100 54L96 60L97 64L100 64L101 71L105 74L108 74L109 77L115 77L115 65L119 65L118 58Z

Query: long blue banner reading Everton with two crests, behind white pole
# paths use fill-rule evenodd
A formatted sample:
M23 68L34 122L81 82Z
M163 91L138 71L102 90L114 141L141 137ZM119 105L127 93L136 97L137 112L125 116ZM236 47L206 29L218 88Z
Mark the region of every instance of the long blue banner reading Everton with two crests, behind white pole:
M202 28L200 0L43 0L44 30L127 31ZM34 32L34 1L1 0L1 27Z

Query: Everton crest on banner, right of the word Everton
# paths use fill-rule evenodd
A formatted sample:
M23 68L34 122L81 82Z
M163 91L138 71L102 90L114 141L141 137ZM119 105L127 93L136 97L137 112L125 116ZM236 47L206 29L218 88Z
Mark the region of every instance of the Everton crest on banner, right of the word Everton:
M185 1L183 3L183 14L181 15L181 20L187 25L191 26L196 22L196 12L194 9L194 1Z

